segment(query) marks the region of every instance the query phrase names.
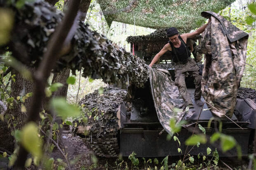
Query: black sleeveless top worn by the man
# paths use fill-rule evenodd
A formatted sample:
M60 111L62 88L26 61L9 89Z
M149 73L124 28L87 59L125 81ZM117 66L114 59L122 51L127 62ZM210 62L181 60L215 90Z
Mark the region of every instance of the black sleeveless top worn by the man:
M171 58L172 61L174 63L177 62L183 62L185 63L187 61L188 58L190 58L190 51L187 48L187 44L183 41L183 39L180 37L180 35L178 36L178 38L180 39L181 43L180 43L180 47L179 48L175 48L173 43L171 41L168 41L168 43L171 45Z

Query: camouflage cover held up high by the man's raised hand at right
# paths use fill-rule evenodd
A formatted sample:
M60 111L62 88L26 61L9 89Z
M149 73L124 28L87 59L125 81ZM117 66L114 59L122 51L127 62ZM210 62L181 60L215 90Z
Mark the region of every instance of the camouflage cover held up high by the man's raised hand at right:
M213 114L231 117L246 63L248 34L214 12L202 12L201 15L211 17L201 43L201 50L206 54L202 95L213 102Z

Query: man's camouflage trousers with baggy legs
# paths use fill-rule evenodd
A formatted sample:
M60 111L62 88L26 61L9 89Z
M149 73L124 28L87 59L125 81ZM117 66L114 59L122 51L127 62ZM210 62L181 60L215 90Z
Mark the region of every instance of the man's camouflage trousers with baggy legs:
M194 62L194 60L188 61L184 65L175 65L175 85L178 86L180 91L180 95L185 102L185 106L193 105L192 100L190 98L190 93L187 91L185 78L186 75L194 77L194 84L196 89L194 91L194 99L199 100L201 98L201 79L202 77L199 75L199 68Z

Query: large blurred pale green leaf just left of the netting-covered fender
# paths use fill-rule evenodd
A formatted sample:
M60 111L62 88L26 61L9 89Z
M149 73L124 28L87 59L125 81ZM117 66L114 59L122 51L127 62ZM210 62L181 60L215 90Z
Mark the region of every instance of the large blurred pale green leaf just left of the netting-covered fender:
M51 107L57 112L58 116L65 120L67 117L77 117L80 115L80 110L75 105L66 103L65 98L53 98L50 101Z

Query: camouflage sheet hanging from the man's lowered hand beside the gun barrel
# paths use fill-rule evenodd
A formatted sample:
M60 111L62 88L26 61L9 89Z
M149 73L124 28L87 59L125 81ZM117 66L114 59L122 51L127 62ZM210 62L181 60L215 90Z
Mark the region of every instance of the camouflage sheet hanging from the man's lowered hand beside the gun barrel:
M174 85L171 75L167 70L148 68L150 89L154 106L161 125L170 134L171 128L169 121L175 118L177 123L184 116L184 101L180 96L178 87ZM175 113L175 108L182 109L181 112Z

